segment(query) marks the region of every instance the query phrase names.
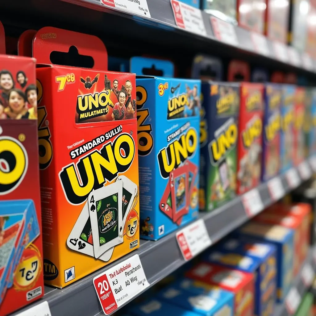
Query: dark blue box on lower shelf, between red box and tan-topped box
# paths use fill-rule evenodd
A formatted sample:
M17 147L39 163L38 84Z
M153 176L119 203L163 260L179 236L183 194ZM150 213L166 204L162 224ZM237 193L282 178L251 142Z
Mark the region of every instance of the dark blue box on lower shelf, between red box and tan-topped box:
M276 297L276 247L229 239L215 246L204 259L228 268L254 273L255 315L274 315Z

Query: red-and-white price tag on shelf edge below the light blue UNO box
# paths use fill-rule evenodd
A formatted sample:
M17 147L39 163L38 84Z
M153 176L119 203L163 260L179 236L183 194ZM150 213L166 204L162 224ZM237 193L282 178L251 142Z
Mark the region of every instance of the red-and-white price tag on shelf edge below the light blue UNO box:
M190 260L212 244L203 219L181 229L176 238L185 260Z

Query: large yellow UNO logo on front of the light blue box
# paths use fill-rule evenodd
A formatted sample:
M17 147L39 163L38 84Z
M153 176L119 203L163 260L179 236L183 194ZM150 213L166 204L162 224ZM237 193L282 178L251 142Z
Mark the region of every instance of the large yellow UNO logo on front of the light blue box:
M160 174L163 178L168 178L173 169L194 154L197 149L197 140L197 131L194 128L189 128L179 139L160 150L157 158Z

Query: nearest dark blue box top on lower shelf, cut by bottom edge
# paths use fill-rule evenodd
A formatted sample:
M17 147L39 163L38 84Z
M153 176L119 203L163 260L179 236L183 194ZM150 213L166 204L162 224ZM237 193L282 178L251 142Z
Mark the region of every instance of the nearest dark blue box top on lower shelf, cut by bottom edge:
M134 316L198 316L197 313L158 299L152 299L143 304L133 306L128 310L128 313Z

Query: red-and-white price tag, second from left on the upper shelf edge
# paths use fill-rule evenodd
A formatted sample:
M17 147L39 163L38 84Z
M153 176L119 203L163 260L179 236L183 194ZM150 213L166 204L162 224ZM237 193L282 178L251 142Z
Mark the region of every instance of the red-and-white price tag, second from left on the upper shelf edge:
M207 36L201 10L178 0L170 0L174 20L178 27L198 35Z

